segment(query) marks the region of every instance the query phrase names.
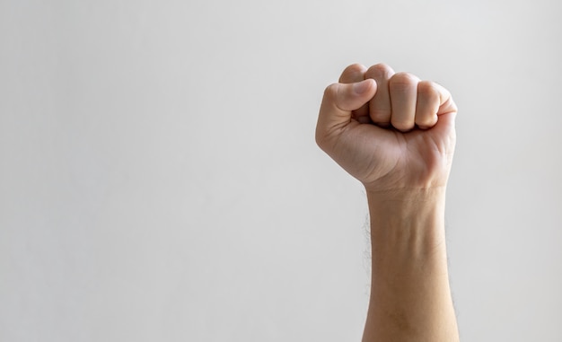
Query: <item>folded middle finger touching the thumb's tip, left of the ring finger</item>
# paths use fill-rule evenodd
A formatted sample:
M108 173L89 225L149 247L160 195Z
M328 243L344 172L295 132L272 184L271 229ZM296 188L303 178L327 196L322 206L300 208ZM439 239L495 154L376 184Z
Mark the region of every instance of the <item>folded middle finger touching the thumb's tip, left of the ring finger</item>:
M377 92L373 100L369 101L369 115L373 123L388 127L391 123L391 98L389 95L389 80L394 70L385 64L371 66L365 73L365 78L373 78L377 83Z

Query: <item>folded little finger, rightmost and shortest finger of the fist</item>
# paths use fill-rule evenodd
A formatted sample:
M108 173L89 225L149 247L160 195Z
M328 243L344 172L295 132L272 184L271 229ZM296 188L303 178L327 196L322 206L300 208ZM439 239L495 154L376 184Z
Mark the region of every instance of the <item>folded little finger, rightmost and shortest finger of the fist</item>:
M421 129L434 127L437 123L440 93L435 83L421 81L417 83L416 125Z

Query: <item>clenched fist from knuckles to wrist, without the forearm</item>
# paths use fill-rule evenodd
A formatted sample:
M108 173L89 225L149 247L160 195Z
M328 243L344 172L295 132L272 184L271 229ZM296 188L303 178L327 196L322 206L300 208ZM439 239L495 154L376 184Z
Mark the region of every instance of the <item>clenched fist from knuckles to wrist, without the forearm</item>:
M368 193L444 189L457 107L441 85L378 64L326 88L316 142Z

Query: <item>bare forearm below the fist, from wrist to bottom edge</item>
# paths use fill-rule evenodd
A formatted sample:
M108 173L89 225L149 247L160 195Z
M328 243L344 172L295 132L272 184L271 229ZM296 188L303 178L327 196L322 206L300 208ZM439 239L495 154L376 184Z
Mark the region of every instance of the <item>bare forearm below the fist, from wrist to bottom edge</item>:
M458 341L444 238L444 189L367 194L373 277L364 342Z

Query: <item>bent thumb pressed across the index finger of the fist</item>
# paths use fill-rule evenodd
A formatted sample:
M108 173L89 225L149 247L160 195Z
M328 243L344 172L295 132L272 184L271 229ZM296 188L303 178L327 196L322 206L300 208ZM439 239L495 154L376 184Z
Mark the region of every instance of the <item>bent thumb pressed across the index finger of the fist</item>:
M351 112L360 109L373 98L377 86L373 80L359 83L333 83L326 88L316 126L316 141L322 147L325 139L346 127Z

